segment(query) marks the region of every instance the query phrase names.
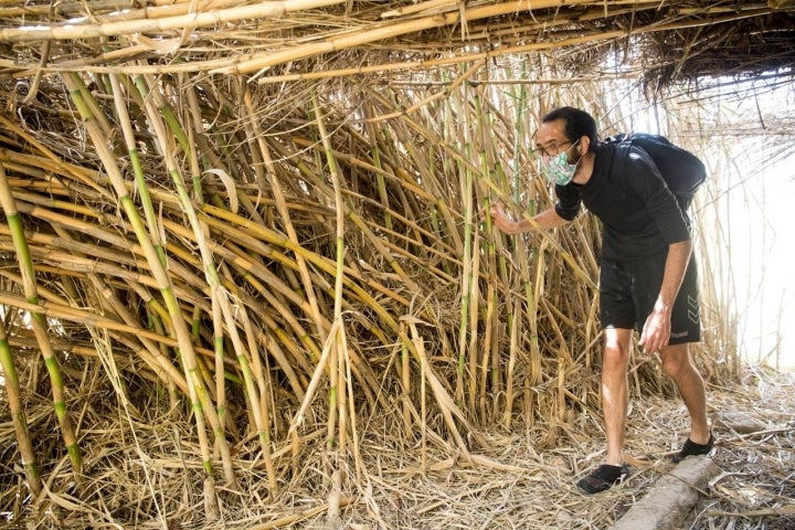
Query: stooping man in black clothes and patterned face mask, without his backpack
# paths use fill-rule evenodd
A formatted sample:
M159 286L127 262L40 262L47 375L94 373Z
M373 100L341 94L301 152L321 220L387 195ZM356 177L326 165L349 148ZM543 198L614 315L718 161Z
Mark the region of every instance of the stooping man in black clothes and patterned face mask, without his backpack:
M490 214L494 225L508 234L563 226L577 215L581 203L602 221L600 319L607 453L604 464L577 483L591 495L629 474L624 436L635 329L646 353L659 352L662 370L690 414L690 435L674 462L712 449L704 384L688 347L700 340L690 227L648 155L632 147L626 163L613 163L616 147L598 144L596 123L584 110L562 107L549 113L537 141L541 171L555 184L558 203L536 215L534 223L512 221L499 203Z

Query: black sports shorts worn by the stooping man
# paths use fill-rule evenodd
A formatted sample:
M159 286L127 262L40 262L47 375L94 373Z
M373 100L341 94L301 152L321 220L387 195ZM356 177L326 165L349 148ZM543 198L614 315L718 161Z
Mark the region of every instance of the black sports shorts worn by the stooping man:
M603 259L600 273L600 318L602 329L640 331L651 314L662 284L668 252L627 262ZM698 271L691 255L671 312L669 344L701 340L698 303Z

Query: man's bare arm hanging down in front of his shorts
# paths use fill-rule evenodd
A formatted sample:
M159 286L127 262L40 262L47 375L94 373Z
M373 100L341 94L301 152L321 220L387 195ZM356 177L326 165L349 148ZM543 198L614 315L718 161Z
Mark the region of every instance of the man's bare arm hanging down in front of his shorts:
M649 353L659 351L662 347L668 346L674 301L679 294L682 278L685 278L691 252L692 243L690 241L672 243L668 246L668 257L666 258L662 285L660 286L655 307L646 319L640 335L639 343L644 347L644 350Z

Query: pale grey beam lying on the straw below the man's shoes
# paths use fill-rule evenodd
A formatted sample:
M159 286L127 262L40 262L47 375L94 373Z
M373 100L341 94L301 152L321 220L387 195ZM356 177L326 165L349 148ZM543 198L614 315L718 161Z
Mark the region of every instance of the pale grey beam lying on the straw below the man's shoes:
M612 530L668 530L693 510L700 491L718 475L709 457L690 457L660 477L646 496L618 519Z

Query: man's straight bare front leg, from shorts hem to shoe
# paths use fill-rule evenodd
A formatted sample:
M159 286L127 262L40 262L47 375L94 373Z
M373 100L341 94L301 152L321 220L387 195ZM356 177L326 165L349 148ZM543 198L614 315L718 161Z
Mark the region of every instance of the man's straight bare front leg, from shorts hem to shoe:
M602 359L602 411L604 412L607 457L605 464L624 464L624 436L628 404L627 367L630 329L605 329Z

